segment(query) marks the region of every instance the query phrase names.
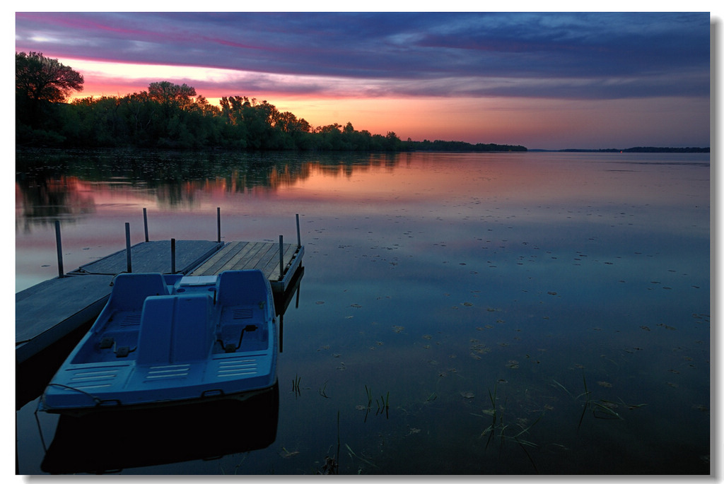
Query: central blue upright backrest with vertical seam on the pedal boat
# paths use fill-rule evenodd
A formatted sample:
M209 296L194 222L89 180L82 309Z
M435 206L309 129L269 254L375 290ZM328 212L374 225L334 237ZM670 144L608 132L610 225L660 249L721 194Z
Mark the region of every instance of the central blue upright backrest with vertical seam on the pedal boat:
M148 297L138 334L138 364L172 364L209 357L214 329L212 307L209 294Z

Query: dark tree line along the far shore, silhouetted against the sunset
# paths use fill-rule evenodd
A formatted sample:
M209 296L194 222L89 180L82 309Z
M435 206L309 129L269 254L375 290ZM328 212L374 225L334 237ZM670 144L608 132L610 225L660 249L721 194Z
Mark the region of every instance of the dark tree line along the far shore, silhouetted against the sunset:
M344 126L334 123L313 127L306 119L246 96L223 97L219 106L214 106L198 95L195 88L169 81L151 82L148 90L122 97L76 98L66 102L73 91L81 90L83 76L57 59L36 52L16 53L17 146L460 150L461 142L413 142L409 138L403 142L395 132L371 134L355 130L350 122ZM463 144L470 150L497 146Z

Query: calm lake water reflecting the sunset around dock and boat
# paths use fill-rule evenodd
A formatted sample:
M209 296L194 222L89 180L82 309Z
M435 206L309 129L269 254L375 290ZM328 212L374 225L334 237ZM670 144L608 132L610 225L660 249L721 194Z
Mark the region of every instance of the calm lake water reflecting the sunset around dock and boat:
M278 400L189 410L172 431L96 425L92 446L130 442L106 470L710 472L708 154L18 161L16 291L57 275L56 219L70 271L123 250L126 222L142 242L143 208L151 239L215 240L220 208L225 241L292 241L299 214L305 273ZM20 474L44 473L45 447L80 433L36 419L37 396L16 412Z

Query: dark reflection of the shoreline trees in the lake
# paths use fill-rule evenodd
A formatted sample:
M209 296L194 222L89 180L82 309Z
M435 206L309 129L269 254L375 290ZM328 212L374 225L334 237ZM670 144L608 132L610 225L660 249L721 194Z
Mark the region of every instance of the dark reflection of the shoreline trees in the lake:
M308 179L394 169L405 153L232 153L158 150L19 150L16 214L27 223L95 211L94 191L135 190L169 207L193 206L197 192L274 192Z

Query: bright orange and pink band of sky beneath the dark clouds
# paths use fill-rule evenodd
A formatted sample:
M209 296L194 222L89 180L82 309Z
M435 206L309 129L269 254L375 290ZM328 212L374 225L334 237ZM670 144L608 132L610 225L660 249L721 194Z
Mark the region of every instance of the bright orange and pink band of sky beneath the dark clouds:
M245 89L248 73L200 67L172 67L116 64L78 59L59 59L83 74L85 89L72 98L123 97L148 90L151 82L169 80L188 84L209 103L218 105L222 96L241 95L267 101L279 109L306 119L312 127L348 122L355 130L373 135L395 132L405 141L446 140L468 143L523 145L527 148L630 148L641 139L651 145L669 146L691 136L681 132L680 140L662 133L651 119L686 116L693 126L697 116L709 112L706 99L667 98L622 100L560 100L544 98L447 98L447 97L362 97L345 85L346 94L334 91L335 80L316 77L303 80L329 84L329 93L311 94ZM277 88L290 83L287 76L275 77ZM201 86L214 86L202 88ZM332 87L334 86L334 87ZM606 127L606 130L599 129ZM571 145L571 140L577 140Z

